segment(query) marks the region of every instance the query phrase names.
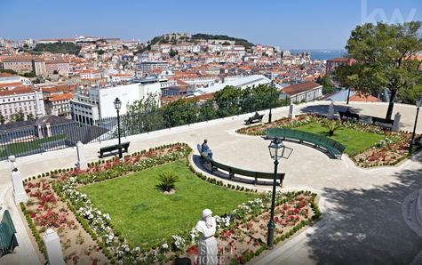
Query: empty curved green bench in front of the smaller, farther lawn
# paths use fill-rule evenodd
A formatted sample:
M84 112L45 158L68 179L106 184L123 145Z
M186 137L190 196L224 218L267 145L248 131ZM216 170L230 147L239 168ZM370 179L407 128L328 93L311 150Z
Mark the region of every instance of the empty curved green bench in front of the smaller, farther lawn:
M283 140L290 139L296 140L300 143L307 142L313 144L315 148L322 148L329 152L336 158L341 158L345 147L338 141L334 141L328 137L315 134L312 132L303 132L288 128L268 128L267 139L281 138Z

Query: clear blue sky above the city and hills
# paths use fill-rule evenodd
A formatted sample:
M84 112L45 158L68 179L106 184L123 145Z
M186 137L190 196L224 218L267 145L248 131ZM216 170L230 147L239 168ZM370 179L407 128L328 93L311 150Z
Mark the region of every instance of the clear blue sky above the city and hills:
M107 36L147 41L171 32L243 37L282 49L343 49L365 22L422 20L422 0L0 0L0 37Z

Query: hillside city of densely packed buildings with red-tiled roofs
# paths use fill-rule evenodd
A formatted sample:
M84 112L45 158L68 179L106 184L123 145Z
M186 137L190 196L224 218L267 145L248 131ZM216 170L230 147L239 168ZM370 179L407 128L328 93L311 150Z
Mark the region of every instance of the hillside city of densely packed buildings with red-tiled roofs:
M152 90L162 97L158 102L165 104L181 97L204 97L227 84L273 83L283 91L289 84L315 82L326 70L325 61L311 60L307 52L294 54L243 39L202 34L164 34L147 43L98 36L1 40L0 71L10 73L3 79L13 79L15 84L0 80L0 103L6 96L23 99L23 92L33 93L35 100L2 107L6 122L21 109L25 118L48 114L91 124L113 116L106 110L113 109L113 97L124 98L123 92L137 93L125 100L127 104L141 100L146 96L142 91L154 86ZM100 100L105 94L107 103Z

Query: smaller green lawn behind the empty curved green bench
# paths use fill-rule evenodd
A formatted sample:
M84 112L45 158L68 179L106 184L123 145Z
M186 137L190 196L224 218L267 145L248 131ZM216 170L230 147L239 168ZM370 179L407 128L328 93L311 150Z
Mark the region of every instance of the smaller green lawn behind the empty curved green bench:
M315 122L302 125L294 129L305 132L313 132L324 136L327 136L328 132L328 129L324 128L322 124ZM362 151L369 149L378 141L383 140L385 137L373 132L362 132L359 130L340 127L334 132L334 135L329 138L344 145L346 148L345 153L350 157L354 157Z

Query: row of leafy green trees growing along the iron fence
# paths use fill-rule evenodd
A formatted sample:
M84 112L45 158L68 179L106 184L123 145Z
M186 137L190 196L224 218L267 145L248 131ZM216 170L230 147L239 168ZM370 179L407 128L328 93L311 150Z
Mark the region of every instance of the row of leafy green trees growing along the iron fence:
M149 95L128 106L122 116L123 134L151 132L288 104L289 100L280 100L280 93L269 84L245 89L226 86L215 92L213 99L200 102L195 98L180 98L161 108L157 105L157 96Z

